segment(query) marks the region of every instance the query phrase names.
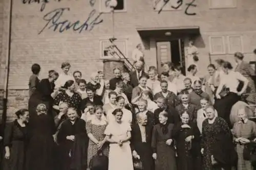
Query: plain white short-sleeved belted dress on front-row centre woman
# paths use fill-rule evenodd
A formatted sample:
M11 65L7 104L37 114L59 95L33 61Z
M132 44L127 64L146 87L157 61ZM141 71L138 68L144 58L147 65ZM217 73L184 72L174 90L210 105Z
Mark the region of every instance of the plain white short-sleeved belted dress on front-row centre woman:
M122 140L127 137L127 132L131 130L131 126L125 122L121 124L112 122L106 127L105 135L114 140ZM118 143L110 143L109 169L134 170L130 141L124 142L121 146Z

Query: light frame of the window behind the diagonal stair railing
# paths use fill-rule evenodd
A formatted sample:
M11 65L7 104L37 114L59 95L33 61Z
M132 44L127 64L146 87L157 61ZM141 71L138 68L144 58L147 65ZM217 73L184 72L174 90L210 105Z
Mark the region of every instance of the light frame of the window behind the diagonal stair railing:
M116 41L123 41L124 42L124 48L125 52L122 52L126 58L128 57L128 39L127 38L118 38ZM103 43L110 43L109 39L100 39L99 44L100 44L100 59L112 59L112 56L104 56L104 48L103 48ZM119 58L118 58L119 59Z

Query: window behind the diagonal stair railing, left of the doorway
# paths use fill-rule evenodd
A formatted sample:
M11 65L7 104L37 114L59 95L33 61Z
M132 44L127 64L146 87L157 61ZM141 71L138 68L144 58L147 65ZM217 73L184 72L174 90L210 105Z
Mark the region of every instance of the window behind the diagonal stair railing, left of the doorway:
M127 57L126 39L117 39L113 45L109 40L100 40L100 58L123 58L123 55Z

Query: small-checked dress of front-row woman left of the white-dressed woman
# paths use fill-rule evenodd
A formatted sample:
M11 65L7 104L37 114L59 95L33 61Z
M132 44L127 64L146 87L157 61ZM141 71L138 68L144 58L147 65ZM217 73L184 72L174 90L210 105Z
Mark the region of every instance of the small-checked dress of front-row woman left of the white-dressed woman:
M105 138L104 131L106 129L106 124L105 125L95 125L92 124L92 122L88 122L86 124L86 130L87 134L92 134L98 141L102 141ZM97 144L94 143L92 140L89 140L89 145L88 145L88 165L90 165L90 160L92 159L93 156L95 156L98 152ZM105 156L109 155L109 146L108 143L105 143L102 147L102 153Z

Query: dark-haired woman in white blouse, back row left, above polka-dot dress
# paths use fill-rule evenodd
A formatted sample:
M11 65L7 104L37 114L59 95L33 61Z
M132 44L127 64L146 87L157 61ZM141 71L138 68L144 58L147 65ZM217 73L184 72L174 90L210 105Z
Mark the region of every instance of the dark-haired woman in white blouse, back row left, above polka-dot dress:
M61 64L62 73L59 74L59 78L55 82L55 85L57 88L62 87L65 89L64 85L67 81L69 80L75 81L74 77L69 75L70 67L71 65L68 62L63 62Z

